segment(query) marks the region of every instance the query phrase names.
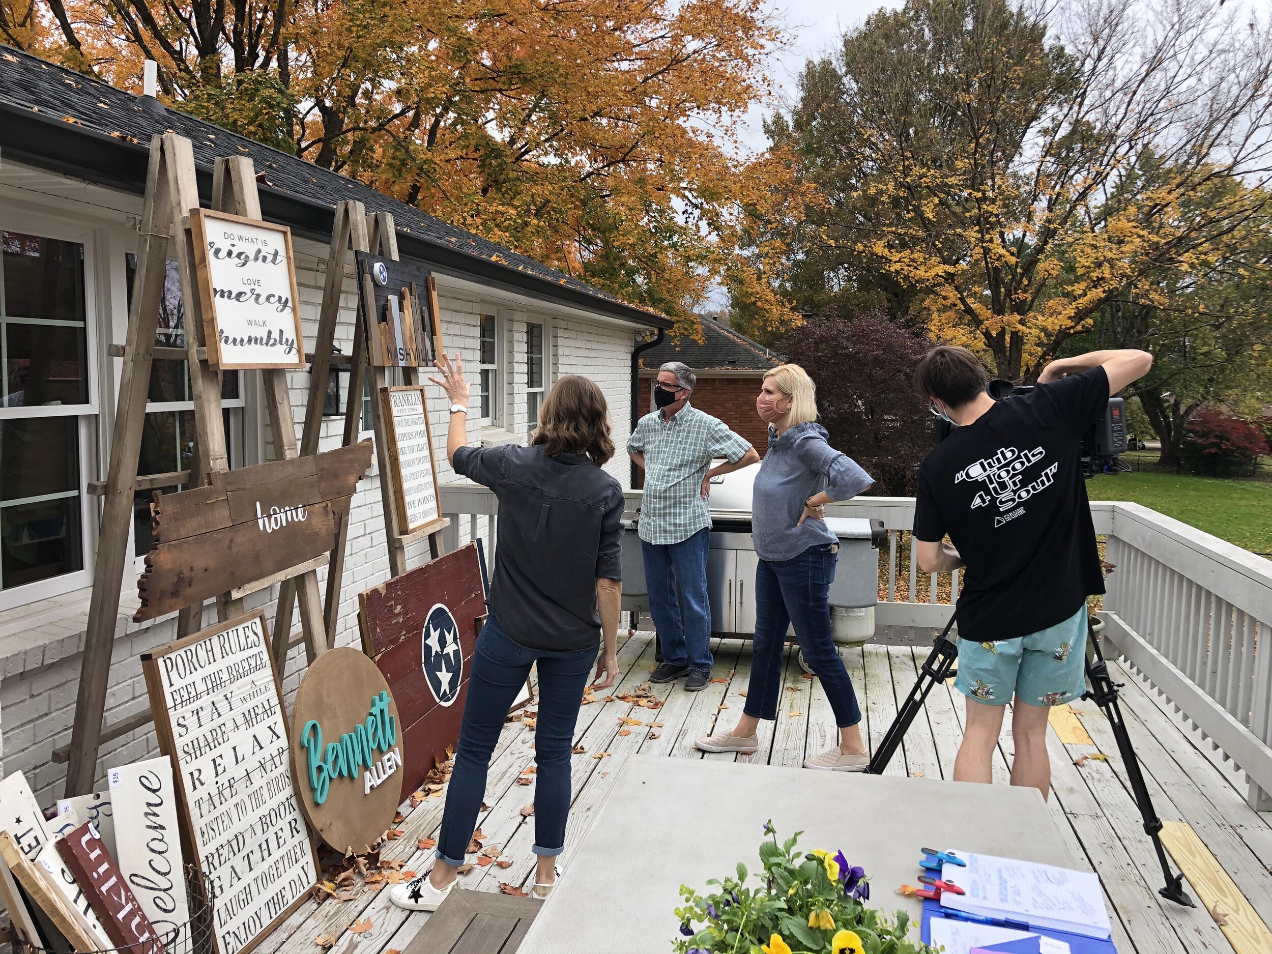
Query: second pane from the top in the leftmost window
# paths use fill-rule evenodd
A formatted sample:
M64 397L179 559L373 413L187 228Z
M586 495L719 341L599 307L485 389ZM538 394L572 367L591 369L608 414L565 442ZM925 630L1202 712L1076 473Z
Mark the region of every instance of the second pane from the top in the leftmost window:
M88 403L84 326L5 322L5 407Z

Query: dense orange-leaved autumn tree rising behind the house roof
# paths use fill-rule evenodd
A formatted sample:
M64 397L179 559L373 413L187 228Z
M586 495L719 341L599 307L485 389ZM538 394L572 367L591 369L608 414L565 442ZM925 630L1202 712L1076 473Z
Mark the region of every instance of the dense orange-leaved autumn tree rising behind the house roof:
M766 321L789 318L763 254L739 254L738 240L791 170L735 148L767 92L776 33L763 0L0 0L0 11L5 42L134 89L154 59L177 108L630 301L687 319L726 281L750 289Z

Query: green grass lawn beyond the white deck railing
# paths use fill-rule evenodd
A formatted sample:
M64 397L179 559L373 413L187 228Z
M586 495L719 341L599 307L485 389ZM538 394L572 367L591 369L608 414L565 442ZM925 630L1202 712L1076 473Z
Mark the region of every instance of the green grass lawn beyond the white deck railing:
M1131 500L1213 533L1239 547L1272 553L1272 483L1165 473L1100 474L1091 500Z

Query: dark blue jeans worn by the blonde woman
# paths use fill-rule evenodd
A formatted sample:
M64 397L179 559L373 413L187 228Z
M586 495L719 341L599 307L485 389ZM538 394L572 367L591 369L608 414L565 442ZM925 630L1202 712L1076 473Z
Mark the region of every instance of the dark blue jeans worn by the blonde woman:
M750 684L743 711L756 719L776 719L782 695L782 649L795 623L804 661L822 681L841 729L861 721L857 693L831 636L831 584L838 561L837 543L819 543L798 557L768 562L756 570L756 636L752 642Z

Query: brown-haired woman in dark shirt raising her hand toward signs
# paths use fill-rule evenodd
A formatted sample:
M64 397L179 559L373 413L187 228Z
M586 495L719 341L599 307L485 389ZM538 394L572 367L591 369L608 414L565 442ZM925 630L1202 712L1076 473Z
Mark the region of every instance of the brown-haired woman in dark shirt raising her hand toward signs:
M468 383L459 355L435 363L450 398L446 457L455 473L499 497L499 546L490 617L477 637L455 767L446 787L432 870L394 885L389 901L435 911L455 887L477 826L490 757L508 710L538 669L534 759L533 897L556 884L570 812L570 757L588 677L604 637L593 688L618 675L623 491L602 469L614 454L605 396L567 374L547 394L529 446L467 446Z

